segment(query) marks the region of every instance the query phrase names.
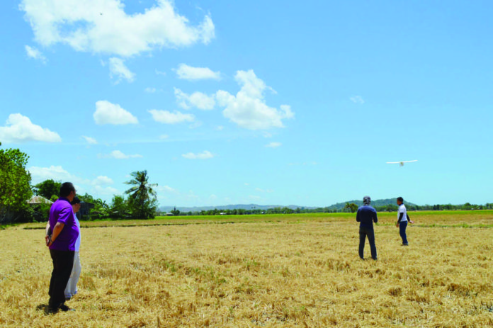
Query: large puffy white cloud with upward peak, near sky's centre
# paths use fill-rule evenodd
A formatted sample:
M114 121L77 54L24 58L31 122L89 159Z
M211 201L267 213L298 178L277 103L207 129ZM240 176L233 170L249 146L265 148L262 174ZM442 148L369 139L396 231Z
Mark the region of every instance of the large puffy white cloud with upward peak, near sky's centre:
M283 128L283 119L294 117L288 105L281 105L280 109L266 105L263 93L269 88L256 77L254 71L238 71L235 79L241 86L236 96L222 90L216 93L217 103L225 107L222 111L225 118L229 118L242 128L267 130Z

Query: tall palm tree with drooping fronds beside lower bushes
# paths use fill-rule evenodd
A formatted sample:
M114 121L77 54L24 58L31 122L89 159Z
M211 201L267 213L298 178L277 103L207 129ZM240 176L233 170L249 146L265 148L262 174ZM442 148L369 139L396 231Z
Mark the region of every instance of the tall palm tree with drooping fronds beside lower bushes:
M130 174L132 180L125 182L132 185L130 189L125 191L129 195L128 200L132 215L139 219L154 218L154 213L157 209L157 198L154 187L157 183L149 183L147 170L135 171Z

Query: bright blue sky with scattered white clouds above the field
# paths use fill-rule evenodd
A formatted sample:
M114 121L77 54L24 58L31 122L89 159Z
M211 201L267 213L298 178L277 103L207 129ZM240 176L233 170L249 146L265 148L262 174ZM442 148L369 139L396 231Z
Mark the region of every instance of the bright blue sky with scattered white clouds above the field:
M1 147L108 201L147 169L160 205L492 202L492 9L1 1Z

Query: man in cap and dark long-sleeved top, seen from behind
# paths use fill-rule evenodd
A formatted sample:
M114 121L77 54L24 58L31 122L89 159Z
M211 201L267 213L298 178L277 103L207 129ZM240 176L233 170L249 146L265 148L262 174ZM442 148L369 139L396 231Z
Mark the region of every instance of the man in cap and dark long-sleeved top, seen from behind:
M359 256L361 259L365 259L363 251L365 250L365 240L368 237L368 243L370 243L371 258L376 261L377 259L377 247L375 246L375 231L373 230L373 222L378 222L377 211L370 205L370 196L363 197L363 206L358 208L356 213L356 221L360 222L360 244L359 244Z

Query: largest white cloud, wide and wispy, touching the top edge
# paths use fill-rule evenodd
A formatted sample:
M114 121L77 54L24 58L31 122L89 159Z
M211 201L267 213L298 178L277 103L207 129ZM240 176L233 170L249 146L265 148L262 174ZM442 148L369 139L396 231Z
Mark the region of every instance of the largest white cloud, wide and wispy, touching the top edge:
M215 37L209 15L191 26L171 0L132 14L125 13L122 0L22 0L19 9L40 45L63 43L77 51L130 57L161 47L208 44Z

